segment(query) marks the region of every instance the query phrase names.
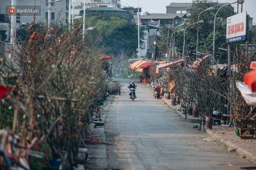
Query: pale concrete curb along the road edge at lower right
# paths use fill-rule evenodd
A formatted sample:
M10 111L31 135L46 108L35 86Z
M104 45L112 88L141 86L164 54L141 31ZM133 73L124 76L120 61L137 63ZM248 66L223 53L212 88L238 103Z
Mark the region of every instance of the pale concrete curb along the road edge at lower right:
M215 137L219 142L226 145L230 150L234 150L240 156L246 158L247 160L251 160L251 162L253 162L253 163L256 163L256 155L251 153L250 151L247 151L244 148L242 148L242 147L234 144L233 142L229 141L228 139L223 138L222 136L216 134L211 129L206 129L206 134L208 136Z

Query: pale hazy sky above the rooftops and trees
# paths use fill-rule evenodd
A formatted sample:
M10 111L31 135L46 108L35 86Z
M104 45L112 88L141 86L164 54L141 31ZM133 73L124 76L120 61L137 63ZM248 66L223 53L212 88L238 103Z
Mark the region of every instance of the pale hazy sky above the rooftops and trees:
M220 3L232 3L237 0L218 0ZM143 12L147 11L149 13L161 13L166 14L166 6L170 3L192 3L192 0L121 0L121 5L132 6L132 7L142 7ZM128 4L128 5L127 5ZM234 11L237 12L237 3L232 5L235 7ZM242 5L239 4L239 13L241 12ZM225 7L224 7L225 8ZM244 0L242 10L247 11L247 14L253 18L254 25L256 24L256 0Z

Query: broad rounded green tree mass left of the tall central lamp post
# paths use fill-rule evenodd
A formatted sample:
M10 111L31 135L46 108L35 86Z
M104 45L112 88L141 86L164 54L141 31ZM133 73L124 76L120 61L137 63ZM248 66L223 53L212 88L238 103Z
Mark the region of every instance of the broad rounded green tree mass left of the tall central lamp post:
M127 19L119 15L92 13L87 11L86 27L95 27L95 31L90 31L91 42L98 41L99 46L106 49L106 54L118 56L121 53L133 55L138 48L138 29L135 23L128 22ZM143 29L140 30L140 43L144 39Z

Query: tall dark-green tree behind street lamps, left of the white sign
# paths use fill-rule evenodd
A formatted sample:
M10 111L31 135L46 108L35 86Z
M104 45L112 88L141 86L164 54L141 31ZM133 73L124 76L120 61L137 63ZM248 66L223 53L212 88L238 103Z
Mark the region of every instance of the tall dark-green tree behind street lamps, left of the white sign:
M189 24L198 22L198 15L205 9L212 6L212 3L208 0L193 0L190 8L190 16L187 20ZM216 12L221 6L214 7L211 11L202 12L199 15L199 20L204 20L203 23L199 24L199 35L198 35L198 51L204 53L212 53L213 51L213 32L214 32L214 17ZM225 46L226 44L226 24L227 17L234 15L234 8L231 5L221 8L216 15L216 30L215 30L215 47L216 49ZM190 26L186 30L186 47L190 54L196 51L197 42L197 24ZM215 49L215 51L216 51ZM218 55L218 53L215 53Z

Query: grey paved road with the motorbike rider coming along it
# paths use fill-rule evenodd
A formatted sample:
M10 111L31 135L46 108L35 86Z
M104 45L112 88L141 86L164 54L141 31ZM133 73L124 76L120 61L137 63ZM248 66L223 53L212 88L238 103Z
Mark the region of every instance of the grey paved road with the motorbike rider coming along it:
M131 80L111 102L105 119L107 165L120 170L238 170L254 165L193 129L151 88L135 80L137 99L129 99Z

